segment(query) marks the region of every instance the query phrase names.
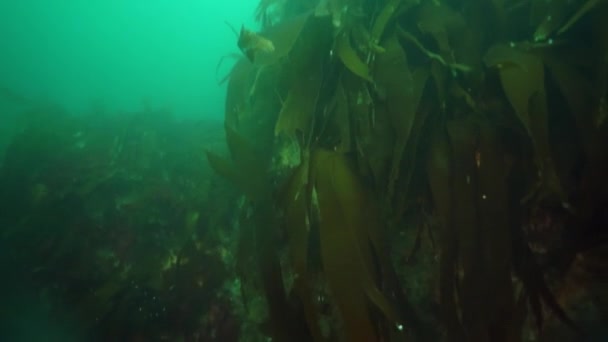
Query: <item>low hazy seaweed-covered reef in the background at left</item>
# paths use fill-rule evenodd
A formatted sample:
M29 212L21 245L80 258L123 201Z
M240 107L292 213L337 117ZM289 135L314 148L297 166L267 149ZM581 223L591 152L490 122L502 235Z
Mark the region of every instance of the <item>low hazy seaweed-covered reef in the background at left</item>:
M202 153L225 149L221 125L23 115L0 172L0 339L236 341L232 209L219 205L234 195Z

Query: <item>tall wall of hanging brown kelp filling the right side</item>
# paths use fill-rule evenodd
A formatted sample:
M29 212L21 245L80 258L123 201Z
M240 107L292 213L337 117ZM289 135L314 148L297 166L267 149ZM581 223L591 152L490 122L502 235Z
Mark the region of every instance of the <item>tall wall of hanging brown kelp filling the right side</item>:
M597 338L607 16L600 0L261 1L227 77L229 157L207 157L246 199L237 272L264 332Z

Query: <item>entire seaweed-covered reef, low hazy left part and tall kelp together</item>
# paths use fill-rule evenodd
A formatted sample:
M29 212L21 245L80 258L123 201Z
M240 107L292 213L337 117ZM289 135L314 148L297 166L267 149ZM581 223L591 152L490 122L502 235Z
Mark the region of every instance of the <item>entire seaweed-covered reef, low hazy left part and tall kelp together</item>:
M0 237L39 311L105 341L608 339L608 2L255 16L223 125L30 109Z

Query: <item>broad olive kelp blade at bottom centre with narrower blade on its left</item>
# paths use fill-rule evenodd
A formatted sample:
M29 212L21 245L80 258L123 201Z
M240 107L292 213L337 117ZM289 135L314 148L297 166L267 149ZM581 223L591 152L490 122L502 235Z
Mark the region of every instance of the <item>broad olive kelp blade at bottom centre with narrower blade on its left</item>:
M375 236L381 230L379 212L344 154L314 150L306 152L302 159L281 198L296 272L294 289L302 301L310 331L316 340L326 338L321 338L320 313L311 294L314 273L308 266L311 225L317 222L320 260L332 301L347 327L345 338L379 340L368 302L392 322L393 328L400 324L395 308L378 284L380 270L375 257L384 253ZM318 218L314 219L314 215ZM384 258L380 260L386 262Z

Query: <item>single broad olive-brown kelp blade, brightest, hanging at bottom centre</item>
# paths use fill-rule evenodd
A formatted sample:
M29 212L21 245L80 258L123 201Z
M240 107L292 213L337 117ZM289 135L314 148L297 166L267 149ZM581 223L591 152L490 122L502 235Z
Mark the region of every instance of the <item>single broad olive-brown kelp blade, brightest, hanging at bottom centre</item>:
M348 341L378 341L369 303L391 324L397 314L375 281L373 243L369 231L381 229L368 192L341 153L316 151L312 156L318 196L323 271Z

